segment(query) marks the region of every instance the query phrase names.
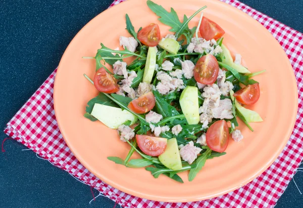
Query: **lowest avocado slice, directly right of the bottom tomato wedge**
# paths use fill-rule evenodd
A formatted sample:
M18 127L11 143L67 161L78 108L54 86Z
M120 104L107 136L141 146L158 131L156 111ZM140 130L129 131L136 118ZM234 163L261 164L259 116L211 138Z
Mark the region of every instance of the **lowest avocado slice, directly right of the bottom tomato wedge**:
M182 168L180 152L176 138L167 140L165 151L159 155L159 160L167 168L177 171Z

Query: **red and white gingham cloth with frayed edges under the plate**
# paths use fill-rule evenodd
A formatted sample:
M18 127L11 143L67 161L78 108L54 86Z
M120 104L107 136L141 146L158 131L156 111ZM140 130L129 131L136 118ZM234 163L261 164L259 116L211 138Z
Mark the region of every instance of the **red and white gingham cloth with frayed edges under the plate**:
M115 0L111 6L123 1ZM298 113L292 135L275 162L252 182L216 198L188 203L150 201L104 183L83 167L60 133L53 102L57 70L11 119L5 133L124 207L273 207L303 159L303 34L238 1L221 1L252 16L273 34L291 62L298 85Z

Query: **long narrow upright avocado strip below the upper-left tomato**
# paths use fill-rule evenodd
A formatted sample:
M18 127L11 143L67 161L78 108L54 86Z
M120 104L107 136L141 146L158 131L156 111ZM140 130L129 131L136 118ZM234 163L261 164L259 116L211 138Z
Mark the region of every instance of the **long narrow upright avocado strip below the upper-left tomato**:
M146 82L147 84L150 84L151 79L153 79L154 76L154 71L156 68L156 55L157 55L157 48L149 47L147 52L143 79L142 79L142 81Z

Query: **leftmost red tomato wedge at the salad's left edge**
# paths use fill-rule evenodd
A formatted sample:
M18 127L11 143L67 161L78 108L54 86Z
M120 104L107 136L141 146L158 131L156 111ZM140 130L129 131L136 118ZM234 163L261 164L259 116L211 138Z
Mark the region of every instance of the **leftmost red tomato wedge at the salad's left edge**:
M105 68L99 68L96 71L93 77L93 85L98 91L103 93L116 93L119 91L117 80Z

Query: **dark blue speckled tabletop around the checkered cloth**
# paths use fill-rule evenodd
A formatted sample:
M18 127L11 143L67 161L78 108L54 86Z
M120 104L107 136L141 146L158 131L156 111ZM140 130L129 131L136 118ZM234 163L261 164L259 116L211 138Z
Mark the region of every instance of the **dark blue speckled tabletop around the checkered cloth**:
M76 33L113 0L1 0L0 1L0 128L18 111L58 66ZM303 1L242 0L303 32ZM173 6L173 5L172 5ZM0 133L0 141L6 135ZM114 202L99 197L91 204L90 188L67 172L38 159L16 141L0 153L0 207L103 207ZM303 191L303 174L295 175ZM97 195L97 191L94 190ZM303 196L290 181L276 208L302 207Z

